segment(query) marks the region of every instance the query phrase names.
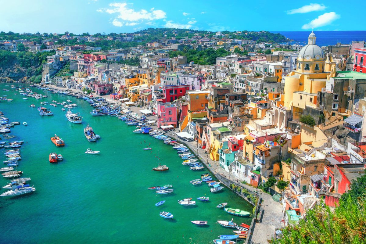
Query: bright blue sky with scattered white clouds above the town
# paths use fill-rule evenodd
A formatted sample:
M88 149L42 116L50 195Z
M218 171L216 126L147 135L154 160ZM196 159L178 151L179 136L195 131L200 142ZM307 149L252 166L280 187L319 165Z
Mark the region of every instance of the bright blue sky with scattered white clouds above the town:
M366 2L362 2L12 0L1 3L0 31L94 34L149 27L210 31L308 31L312 27L318 31L365 30Z

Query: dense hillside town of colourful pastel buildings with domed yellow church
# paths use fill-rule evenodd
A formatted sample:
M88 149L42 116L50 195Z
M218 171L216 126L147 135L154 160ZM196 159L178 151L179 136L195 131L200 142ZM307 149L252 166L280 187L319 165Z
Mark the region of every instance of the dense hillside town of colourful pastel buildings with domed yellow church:
M128 43L139 35L104 39ZM1 41L0 49L16 52L21 43L33 53L54 51L42 64L42 85L149 111L158 129L192 140L233 181L273 195L283 204L284 225L296 225L321 199L336 207L365 174L364 41L318 46L316 31L307 43L218 31L103 50L82 44L100 37L60 39L75 44L44 37L42 44ZM228 54L212 65L187 55L203 50Z

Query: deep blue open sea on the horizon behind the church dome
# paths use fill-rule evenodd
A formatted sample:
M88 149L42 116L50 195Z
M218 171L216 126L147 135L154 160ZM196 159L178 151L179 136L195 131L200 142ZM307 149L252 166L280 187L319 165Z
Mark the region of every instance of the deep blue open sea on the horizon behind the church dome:
M272 33L280 33L291 40L291 44L306 45L307 38L311 31L270 31ZM336 45L337 42L342 44L351 44L352 41L366 41L366 31L314 31L318 46ZM286 42L288 43L288 42Z

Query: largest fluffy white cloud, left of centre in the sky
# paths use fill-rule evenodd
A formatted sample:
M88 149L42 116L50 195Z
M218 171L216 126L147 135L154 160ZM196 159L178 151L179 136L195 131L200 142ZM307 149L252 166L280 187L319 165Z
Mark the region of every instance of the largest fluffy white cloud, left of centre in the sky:
M164 19L166 17L166 13L163 10L154 10L154 8L147 10L138 10L135 11L133 8L128 8L127 3L111 3L109 7L105 9L105 12L108 14L119 14L117 18L126 20L126 21L138 21L138 20L154 20L154 19Z

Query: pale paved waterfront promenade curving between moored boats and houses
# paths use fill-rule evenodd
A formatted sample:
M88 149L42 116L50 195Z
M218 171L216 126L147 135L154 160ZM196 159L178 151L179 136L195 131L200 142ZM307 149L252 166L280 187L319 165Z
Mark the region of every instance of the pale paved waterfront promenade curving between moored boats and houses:
M67 88L61 88L61 87L56 87L56 86L47 86L50 87L52 89L58 89L58 90L68 90L71 92L82 92L81 90L76 90L76 89L67 89ZM99 97L99 95L97 94L93 94L95 97ZM105 98L108 102L111 103L119 103L119 101L113 100L109 97L109 95L104 95L101 96L103 98ZM130 109L135 112L140 114L140 111L142 108L138 108L138 107L130 107ZM157 117L156 116L150 116L148 117L149 120L156 120ZM156 126L153 126L154 129L157 129ZM169 136L180 140L177 136L175 136L175 132L178 132L178 129L175 129L175 131L172 131ZM180 140L182 141L182 140ZM229 172L225 171L224 169L222 169L219 166L219 162L218 161L213 161L210 159L208 154L205 154L205 151L201 148L197 147L197 142L185 142L182 141L183 143L187 144L188 147L190 147L190 149L192 151L194 151L195 154L197 154L197 156L201 159L201 161L207 166L207 168L216 176L220 175L222 177L224 177L225 179L228 180L232 180L234 181L234 178L232 175L229 175ZM247 185L247 184L242 184L240 181L237 182L235 180L235 184L239 185L242 188L246 188L252 192L258 192L259 195L261 195L262 198L262 202L261 202L261 207L263 208L263 214L261 217L261 221L260 222L255 222L254 221L254 225L252 226L252 235L250 236L249 240L251 240L253 243L267 243L268 239L271 239L273 234L275 233L276 228L280 228L281 227L281 220L284 219L284 213L283 213L283 205L279 202L275 202L272 199L272 196L269 195L268 193L262 192L261 189L256 189L255 187L252 187L251 185ZM246 241L246 243L248 243L248 241Z

